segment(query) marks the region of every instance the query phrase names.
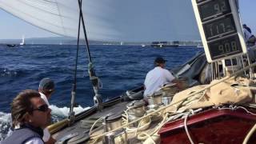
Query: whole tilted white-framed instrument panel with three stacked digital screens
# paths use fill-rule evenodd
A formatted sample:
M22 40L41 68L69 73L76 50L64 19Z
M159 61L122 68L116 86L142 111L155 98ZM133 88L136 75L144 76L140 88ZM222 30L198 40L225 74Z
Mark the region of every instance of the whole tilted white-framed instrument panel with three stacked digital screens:
M192 6L208 62L246 54L236 0L192 0Z

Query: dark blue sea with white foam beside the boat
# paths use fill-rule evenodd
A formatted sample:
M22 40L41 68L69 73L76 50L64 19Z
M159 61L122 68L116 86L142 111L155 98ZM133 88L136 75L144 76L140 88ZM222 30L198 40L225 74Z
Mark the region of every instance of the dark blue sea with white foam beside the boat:
M202 49L196 46L90 46L94 70L102 82L100 93L105 101L142 86L146 73L154 68L154 58L166 58L166 68L171 70L198 51ZM22 90L38 90L42 78L49 77L56 85L50 98L54 122L66 118L74 82L75 56L76 46L26 45L10 48L0 45L0 141L11 132L10 102ZM94 104L87 64L86 46L80 46L76 113Z

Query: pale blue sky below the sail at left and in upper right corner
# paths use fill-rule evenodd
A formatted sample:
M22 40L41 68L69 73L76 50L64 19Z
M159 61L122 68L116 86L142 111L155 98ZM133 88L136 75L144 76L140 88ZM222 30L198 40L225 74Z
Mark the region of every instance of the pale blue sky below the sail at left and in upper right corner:
M242 23L246 23L256 35L256 18L254 17L256 0L240 0ZM57 37L57 34L41 30L27 22L14 17L0 9L0 39Z

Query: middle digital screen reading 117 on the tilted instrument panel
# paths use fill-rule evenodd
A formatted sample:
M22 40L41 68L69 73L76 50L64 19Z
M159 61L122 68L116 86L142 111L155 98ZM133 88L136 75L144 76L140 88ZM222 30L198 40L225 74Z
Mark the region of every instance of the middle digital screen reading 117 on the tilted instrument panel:
M236 29L234 26L234 19L231 14L224 18L203 24L207 40L235 33Z

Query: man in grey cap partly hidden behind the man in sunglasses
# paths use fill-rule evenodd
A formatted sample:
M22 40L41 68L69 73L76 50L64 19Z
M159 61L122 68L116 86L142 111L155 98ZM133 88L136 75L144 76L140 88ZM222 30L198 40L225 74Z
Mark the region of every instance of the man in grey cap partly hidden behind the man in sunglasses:
M54 92L54 81L52 81L50 78L42 78L39 83L38 92L41 95L41 98L46 102L46 104L50 106L48 99ZM43 130L42 140L46 143L56 142L56 140L50 136L50 132L47 128Z

